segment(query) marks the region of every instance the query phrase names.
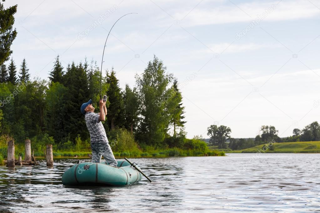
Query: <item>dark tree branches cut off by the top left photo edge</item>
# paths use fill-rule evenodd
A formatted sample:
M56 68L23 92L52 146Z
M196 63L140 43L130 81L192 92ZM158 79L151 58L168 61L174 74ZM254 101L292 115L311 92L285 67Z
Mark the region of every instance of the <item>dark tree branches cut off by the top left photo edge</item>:
M4 2L4 0L2 0ZM0 3L0 65L3 65L12 54L10 49L13 40L17 36L16 29L12 30L14 14L17 12L17 5L4 9Z

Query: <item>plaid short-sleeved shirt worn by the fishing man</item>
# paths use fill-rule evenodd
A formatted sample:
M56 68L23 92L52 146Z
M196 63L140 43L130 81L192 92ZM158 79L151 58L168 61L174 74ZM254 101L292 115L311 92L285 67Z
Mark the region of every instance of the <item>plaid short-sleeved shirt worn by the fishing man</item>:
M90 132L90 141L91 143L103 143L109 142L107 138L106 131L99 121L98 113L87 112L84 115L84 120L87 125L87 128Z

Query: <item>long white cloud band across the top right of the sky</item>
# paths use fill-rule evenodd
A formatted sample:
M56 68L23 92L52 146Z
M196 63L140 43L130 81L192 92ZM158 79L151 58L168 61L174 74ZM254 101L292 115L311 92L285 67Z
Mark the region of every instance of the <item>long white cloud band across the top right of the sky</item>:
M320 14L320 10L308 1L281 1L278 2L251 2L237 4L224 4L218 7L207 5L196 7L182 21L184 26L212 25L236 22L250 22L262 15L268 8L275 6L275 9L268 14L265 20L279 21L299 18L309 18ZM240 8L240 9L239 9ZM175 17L183 18L184 11L176 12Z

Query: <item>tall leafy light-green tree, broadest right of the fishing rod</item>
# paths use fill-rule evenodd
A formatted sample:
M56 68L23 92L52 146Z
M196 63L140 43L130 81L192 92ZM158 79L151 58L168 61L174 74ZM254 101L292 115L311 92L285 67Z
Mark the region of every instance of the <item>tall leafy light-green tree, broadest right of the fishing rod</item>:
M156 147L164 141L171 120L168 103L164 100L168 98L168 87L173 76L165 70L163 62L154 56L142 75L136 75L141 115L136 138L140 143Z

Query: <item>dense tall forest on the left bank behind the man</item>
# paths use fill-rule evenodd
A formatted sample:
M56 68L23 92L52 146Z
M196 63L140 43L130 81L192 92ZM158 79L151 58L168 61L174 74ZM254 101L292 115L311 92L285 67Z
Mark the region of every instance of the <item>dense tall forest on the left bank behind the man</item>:
M136 86L126 84L124 89L119 87L114 69L106 70L101 88L102 94L108 95L107 133L126 129L139 143L156 147L166 141L174 146L175 141L185 138L178 81L165 70L163 62L154 56L144 72L136 74ZM96 111L99 108L100 69L95 61L85 59L64 68L57 56L49 80L30 79L25 59L19 75L17 72L13 59L8 66L1 65L1 134L23 141L47 133L57 143L74 141L78 135L89 138L80 106L92 99Z

